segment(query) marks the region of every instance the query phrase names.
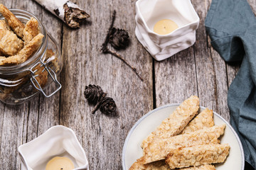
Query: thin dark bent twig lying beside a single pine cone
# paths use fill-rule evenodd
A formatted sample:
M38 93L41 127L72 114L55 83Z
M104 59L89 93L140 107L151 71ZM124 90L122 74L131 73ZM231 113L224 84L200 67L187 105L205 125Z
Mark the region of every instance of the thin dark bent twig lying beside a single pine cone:
M140 74L137 72L137 69L136 69L135 67L132 67L132 65L129 64L129 62L127 62L127 60L124 59L124 57L122 57L121 55L119 55L117 52L114 52L114 51L110 50L110 49L107 47L107 43L110 41L110 34L111 34L111 32L112 32L112 28L113 28L113 26L114 26L115 15L116 15L116 11L114 10L113 15L112 15L112 22L111 22L110 28L109 28L109 30L108 30L108 32L107 32L107 37L106 37L106 39L105 39L105 42L102 44L101 50L102 50L102 52L104 52L104 53L109 53L109 54L114 55L115 57L119 58L120 60L122 60L122 62L124 62L125 64L127 64L127 66L129 66L129 67L135 72L135 74L137 74L137 76L139 77L139 79L141 79L141 80L143 81L142 77L141 77Z

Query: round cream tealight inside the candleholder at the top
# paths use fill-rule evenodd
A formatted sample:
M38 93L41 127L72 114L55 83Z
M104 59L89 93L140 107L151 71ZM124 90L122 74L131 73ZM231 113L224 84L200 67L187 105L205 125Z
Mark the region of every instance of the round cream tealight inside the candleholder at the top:
M154 25L154 32L160 35L166 35L176 30L177 28L178 25L174 21L163 19Z

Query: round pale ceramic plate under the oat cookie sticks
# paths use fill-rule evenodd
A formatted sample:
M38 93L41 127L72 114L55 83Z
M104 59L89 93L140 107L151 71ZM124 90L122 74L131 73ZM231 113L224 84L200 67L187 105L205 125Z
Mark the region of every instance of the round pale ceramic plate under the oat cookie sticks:
M178 104L161 106L160 108L150 111L140 118L137 123L135 123L124 142L122 151L122 168L124 170L128 170L137 159L142 157L142 148L140 147L142 141L152 131L154 131L165 118L168 118L178 106ZM204 107L200 107L199 112L203 111L204 109ZM231 125L224 118L218 115L218 113L213 112L213 119L215 125L226 124L224 135L220 137L220 143L228 143L230 145L230 153L228 158L224 163L216 164L216 169L243 170L245 166L245 157L238 135L236 134L235 130L233 130Z

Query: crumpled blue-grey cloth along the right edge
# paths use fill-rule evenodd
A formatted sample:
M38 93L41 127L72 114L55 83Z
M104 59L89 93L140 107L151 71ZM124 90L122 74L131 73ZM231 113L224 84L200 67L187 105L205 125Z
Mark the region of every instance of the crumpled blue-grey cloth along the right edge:
M230 124L238 132L245 161L256 169L256 18L246 0L213 0L206 32L226 62L242 61L228 89Z

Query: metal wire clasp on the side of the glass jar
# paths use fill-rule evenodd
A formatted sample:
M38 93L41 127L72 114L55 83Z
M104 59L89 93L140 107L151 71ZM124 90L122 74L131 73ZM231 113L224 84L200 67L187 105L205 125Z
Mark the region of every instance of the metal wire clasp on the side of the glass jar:
M43 88L40 86L40 84L38 83L38 81L36 80L36 77L39 76L39 74L35 74L38 69L34 70L33 69L38 65L41 64L40 67L44 67L42 72L47 71L48 74L50 75L51 79L53 79L53 82L56 84L56 86L58 86L58 89L56 89L55 91L53 91L51 94L47 95L44 91ZM44 63L42 61L42 58L40 59L40 62L37 62L35 65L33 65L33 67L31 67L31 69L28 69L29 72L31 72L32 76L31 76L31 82L33 84L33 86L38 90L41 91L42 94L44 96L46 96L47 98L50 96L53 96L53 94L57 93L57 91L59 91L61 89L61 84L60 82L57 80L57 75L55 74L55 72L53 71L53 69L51 69L50 67L47 66L47 63ZM37 85L37 86L36 86Z

